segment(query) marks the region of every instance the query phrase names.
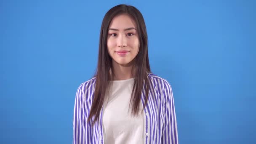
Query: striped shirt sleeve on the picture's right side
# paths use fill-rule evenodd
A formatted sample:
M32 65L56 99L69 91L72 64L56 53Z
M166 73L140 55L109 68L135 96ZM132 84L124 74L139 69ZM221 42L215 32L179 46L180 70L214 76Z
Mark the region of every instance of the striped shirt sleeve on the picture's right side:
M179 144L173 92L168 82L165 83L163 94L165 97L165 114L161 144Z

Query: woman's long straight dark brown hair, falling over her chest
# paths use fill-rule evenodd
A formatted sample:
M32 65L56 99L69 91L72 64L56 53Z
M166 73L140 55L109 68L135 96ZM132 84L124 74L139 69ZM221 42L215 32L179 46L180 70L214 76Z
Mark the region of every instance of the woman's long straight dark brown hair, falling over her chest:
M149 79L147 73L150 73L151 71L148 58L147 30L144 18L141 12L131 5L116 5L105 14L101 24L98 66L96 74L94 75L94 77L96 77L96 85L94 98L88 117L89 121L94 116L93 124L99 120L100 111L105 99L106 89L109 85L109 80L111 80L109 70L112 68L112 58L109 56L107 51L107 34L109 24L112 19L119 14L128 14L131 16L131 18L136 22L139 35L139 52L135 57L135 65L133 66L133 68L135 68L135 77L130 101L132 114L137 115L139 112L139 103L141 100L143 85L146 88L145 103L147 103L148 100ZM145 105L143 108L145 108Z

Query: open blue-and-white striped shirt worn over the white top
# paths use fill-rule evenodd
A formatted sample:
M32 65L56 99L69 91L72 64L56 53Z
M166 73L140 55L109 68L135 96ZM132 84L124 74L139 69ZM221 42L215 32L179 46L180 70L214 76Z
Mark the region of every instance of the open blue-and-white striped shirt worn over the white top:
M145 144L178 144L178 131L171 85L167 80L148 74L149 99L145 104L145 85L141 93L144 109ZM92 125L94 117L87 122L96 78L82 83L75 96L73 117L73 144L104 144L102 109L99 122Z

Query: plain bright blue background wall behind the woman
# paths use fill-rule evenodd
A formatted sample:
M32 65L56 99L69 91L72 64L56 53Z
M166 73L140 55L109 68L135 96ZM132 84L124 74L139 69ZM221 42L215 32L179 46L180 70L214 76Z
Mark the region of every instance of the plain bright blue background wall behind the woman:
M254 0L1 0L0 143L72 143L76 90L96 70L104 14L121 3L144 16L180 144L255 144Z

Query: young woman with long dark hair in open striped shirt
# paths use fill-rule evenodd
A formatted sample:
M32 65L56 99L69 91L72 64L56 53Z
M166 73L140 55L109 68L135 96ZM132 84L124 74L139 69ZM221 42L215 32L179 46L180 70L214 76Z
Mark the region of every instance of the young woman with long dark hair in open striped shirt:
M133 6L102 21L96 74L77 89L73 144L178 144L171 85L150 72L147 31Z

